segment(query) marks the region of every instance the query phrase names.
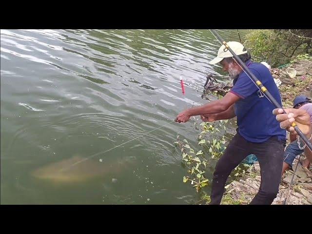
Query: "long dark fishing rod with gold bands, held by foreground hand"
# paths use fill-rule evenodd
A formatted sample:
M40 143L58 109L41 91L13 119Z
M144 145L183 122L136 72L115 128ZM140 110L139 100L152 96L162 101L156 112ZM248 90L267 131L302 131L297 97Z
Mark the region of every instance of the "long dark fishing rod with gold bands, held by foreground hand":
M234 51L229 47L229 45L225 42L225 40L223 40L220 35L215 31L215 29L211 29L210 32L212 32L212 34L215 36L215 38L225 46L224 48L224 52L229 50L231 52L231 54L234 56L236 62L238 62L238 65L241 65L243 69L243 71L246 73L246 75L254 82L255 85L257 85L257 87L259 88L259 90L262 91L262 93L266 96L266 98L269 99L269 101L272 102L272 104L279 109L283 110L284 114L287 114L285 112L285 110L283 109L283 107L275 100L275 98L273 98L273 96L271 95L271 93L267 90L267 88L261 83L261 81L256 78L254 76L254 74L248 69L248 67L246 66L246 64L234 53ZM297 124L295 122L292 123L292 127L294 128L294 130L297 132L297 134L301 137L301 139L306 143L306 145L308 146L308 148L312 151L312 143L308 140L308 138L302 133L302 131L299 129L299 127L297 126Z

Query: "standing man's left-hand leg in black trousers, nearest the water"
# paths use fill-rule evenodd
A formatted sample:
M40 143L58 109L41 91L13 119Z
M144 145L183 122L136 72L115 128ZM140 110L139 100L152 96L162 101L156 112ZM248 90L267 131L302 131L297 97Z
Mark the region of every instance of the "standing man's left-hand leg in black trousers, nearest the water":
M223 155L219 158L215 166L212 191L210 195L210 205L219 205L224 193L224 185L233 169L248 155L248 141L238 133L230 141Z

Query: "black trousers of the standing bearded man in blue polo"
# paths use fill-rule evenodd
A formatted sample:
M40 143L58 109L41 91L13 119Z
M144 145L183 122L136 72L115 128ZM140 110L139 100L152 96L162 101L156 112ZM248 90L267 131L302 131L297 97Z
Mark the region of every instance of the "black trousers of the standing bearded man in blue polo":
M259 160L261 184L250 205L270 205L278 193L285 144L285 140L279 140L277 137L271 137L262 143L253 143L237 133L215 166L209 204L220 204L230 173L246 156L254 154Z

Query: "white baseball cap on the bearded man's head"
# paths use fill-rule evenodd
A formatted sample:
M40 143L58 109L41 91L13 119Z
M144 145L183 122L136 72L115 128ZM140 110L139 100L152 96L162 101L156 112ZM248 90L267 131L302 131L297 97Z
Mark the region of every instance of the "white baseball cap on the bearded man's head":
M233 50L233 52L236 54L236 55L243 55L243 54L246 54L247 53L247 50L245 49L245 47L237 42L237 41L229 41L227 42L228 46ZM225 49L225 45L222 45L219 50L218 50L218 55L215 59L211 60L209 62L209 64L216 64L218 62L221 62L222 59L224 58L230 58L230 57L233 57L232 53L229 51L229 50L226 50L224 52L224 49Z

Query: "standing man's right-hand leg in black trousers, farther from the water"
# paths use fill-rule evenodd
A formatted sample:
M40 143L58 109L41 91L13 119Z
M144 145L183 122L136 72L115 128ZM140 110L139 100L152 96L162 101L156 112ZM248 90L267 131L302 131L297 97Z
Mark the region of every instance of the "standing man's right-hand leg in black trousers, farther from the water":
M278 193L285 143L273 137L263 143L252 143L258 157L261 184L250 205L270 205Z

